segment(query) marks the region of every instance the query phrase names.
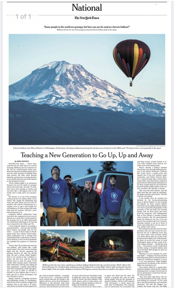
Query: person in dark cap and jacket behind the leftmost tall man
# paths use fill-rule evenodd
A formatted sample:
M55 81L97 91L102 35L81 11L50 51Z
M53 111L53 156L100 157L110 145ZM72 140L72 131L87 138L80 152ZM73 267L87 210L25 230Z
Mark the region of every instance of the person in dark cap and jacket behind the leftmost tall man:
M71 175L67 174L64 176L64 180L68 184L68 191L69 191L69 206L66 212L66 226L69 223L69 226L76 226L77 225L77 204L75 201L75 196L80 193L78 187L73 184L73 180L71 179Z

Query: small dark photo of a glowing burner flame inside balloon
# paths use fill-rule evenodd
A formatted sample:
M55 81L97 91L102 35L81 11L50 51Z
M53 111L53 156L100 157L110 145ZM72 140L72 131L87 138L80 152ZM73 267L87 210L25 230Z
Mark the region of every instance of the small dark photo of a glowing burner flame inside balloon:
M89 262L133 262L133 230L89 230Z

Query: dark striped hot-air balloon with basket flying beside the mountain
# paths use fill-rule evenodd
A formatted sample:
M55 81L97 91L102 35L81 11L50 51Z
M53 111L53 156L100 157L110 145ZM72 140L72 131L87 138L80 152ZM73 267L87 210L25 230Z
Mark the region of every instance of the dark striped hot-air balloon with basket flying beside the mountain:
M150 59L150 48L137 39L120 41L113 51L115 63L127 77L133 79L145 67ZM132 81L130 86L132 86Z

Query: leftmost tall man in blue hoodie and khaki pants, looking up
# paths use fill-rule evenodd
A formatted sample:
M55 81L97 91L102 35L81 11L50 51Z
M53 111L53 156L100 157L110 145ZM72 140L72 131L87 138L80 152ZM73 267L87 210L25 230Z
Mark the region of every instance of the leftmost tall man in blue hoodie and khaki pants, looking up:
M66 226L66 211L69 206L69 191L65 180L60 178L57 165L51 169L51 178L43 183L43 207L47 211L48 226Z

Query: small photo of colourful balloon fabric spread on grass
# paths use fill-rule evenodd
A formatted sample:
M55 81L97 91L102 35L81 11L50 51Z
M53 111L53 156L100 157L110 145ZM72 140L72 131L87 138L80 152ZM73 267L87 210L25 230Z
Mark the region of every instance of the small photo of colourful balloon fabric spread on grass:
M41 230L41 262L84 262L85 230Z

